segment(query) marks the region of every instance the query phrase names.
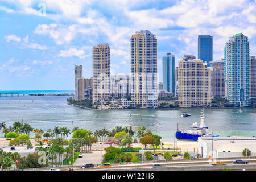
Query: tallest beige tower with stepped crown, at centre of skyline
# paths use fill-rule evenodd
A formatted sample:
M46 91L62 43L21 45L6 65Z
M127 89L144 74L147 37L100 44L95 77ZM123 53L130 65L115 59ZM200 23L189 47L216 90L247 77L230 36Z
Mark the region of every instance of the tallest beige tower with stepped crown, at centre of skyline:
M131 105L156 107L157 40L148 30L136 31L131 36Z

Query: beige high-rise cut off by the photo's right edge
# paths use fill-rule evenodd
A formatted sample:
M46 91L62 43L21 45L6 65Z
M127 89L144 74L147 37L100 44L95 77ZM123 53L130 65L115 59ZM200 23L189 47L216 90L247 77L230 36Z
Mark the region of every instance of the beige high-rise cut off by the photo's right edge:
M250 56L250 97L256 97L256 60Z

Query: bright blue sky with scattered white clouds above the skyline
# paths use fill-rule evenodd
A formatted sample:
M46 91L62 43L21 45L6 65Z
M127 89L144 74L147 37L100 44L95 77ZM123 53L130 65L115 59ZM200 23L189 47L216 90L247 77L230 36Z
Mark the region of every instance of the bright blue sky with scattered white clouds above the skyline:
M242 32L256 55L255 0L0 0L0 90L73 90L75 65L92 76L92 47L108 43L112 75L130 73L130 37L149 30L162 57L197 57L198 35L213 36L213 60Z

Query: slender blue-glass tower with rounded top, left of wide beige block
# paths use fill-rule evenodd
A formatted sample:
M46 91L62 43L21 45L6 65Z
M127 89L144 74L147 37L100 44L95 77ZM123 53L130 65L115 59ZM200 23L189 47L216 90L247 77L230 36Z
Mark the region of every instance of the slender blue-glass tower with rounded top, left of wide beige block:
M163 57L163 89L175 94L175 57L167 53Z

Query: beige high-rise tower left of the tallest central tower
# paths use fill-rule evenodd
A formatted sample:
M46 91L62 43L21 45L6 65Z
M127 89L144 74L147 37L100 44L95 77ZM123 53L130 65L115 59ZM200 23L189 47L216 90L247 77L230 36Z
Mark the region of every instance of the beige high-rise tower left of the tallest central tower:
M98 44L93 47L93 103L110 97L110 47Z

